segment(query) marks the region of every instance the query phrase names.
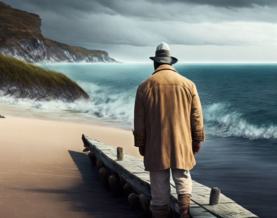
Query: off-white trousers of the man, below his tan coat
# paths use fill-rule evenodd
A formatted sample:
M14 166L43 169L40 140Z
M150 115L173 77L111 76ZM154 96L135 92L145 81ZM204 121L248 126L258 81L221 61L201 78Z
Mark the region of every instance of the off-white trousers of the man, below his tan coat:
M191 194L192 181L190 171L184 169L171 169L172 178L177 194ZM169 203L170 198L170 168L150 171L151 205L162 206Z

